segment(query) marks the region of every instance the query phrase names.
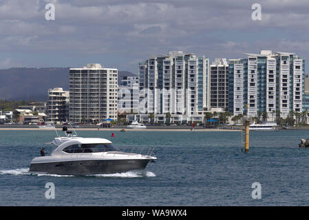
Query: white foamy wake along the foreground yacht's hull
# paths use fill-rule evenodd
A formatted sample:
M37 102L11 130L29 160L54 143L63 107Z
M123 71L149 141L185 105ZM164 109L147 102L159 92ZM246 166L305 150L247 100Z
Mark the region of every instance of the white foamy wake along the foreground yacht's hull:
M56 175L47 173L32 173L29 168L19 168L14 170L0 170L0 175L37 175L38 177L76 177L75 175ZM148 170L131 170L124 173L109 173L109 174L96 174L86 175L87 177L120 177L120 178L136 178L136 177L156 177L156 174Z

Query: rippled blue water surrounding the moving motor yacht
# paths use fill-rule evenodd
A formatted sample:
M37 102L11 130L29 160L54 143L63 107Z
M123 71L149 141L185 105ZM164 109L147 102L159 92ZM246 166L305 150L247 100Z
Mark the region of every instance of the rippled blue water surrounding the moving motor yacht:
M0 206L308 206L308 131L253 131L250 152L231 131L78 131L119 148L153 147L144 171L111 175L31 175L31 159L54 131L0 131ZM55 199L45 184L54 183ZM254 182L262 199L252 199Z

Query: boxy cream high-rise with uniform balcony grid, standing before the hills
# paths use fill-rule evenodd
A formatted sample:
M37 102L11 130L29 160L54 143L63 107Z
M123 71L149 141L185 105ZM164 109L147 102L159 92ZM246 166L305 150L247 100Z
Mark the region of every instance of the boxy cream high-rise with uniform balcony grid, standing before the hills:
M70 68L70 122L117 120L118 69L98 63Z

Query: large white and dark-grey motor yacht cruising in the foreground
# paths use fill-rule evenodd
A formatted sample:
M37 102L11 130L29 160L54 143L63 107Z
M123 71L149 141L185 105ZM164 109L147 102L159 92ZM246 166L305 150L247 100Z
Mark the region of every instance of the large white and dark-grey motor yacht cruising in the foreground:
M105 138L78 137L66 127L63 131L65 137L56 137L52 143L47 143L56 146L50 155L32 159L30 172L57 175L120 173L144 169L148 162L157 159L153 149L146 155L142 155L142 151L127 153L119 151Z

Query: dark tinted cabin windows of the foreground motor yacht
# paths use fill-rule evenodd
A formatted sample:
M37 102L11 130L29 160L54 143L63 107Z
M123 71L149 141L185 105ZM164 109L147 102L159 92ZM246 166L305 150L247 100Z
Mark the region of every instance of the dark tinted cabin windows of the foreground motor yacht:
M73 144L63 149L65 153L98 153L119 151L113 144Z

